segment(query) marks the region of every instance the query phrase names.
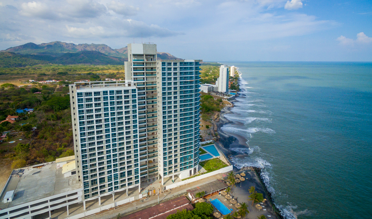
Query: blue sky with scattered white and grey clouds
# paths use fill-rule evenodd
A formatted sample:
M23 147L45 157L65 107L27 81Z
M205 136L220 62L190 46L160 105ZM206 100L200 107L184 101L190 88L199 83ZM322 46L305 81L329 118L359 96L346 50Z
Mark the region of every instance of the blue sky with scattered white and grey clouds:
M204 61L372 61L372 0L0 0L0 50L52 41L150 41Z

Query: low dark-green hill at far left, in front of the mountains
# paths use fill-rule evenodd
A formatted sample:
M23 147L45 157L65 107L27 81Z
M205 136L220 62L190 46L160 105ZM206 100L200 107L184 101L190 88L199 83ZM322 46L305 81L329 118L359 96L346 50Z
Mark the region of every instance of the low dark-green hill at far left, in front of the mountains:
M48 61L35 60L25 57L24 55L4 52L0 53L0 67L13 68L13 67L26 67L36 64L47 64Z

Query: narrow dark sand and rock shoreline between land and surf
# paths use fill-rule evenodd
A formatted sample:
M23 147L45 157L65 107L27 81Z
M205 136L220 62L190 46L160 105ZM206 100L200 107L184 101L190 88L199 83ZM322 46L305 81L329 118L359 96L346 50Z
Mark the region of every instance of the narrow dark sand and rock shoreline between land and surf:
M239 82L240 82L240 78L238 79L238 83ZM241 90L239 89L238 92L239 91L241 91ZM238 93L238 96L240 96L239 93ZM240 137L240 136L237 136L237 135L231 135L230 136L230 135L224 133L224 131L222 131L222 129L221 129L221 127L223 127L226 124L234 123L233 121L227 120L227 118L225 118L223 115L233 113L233 112L231 112L231 108L233 108L235 106L234 102L237 102L236 98L237 98L237 96L234 96L233 98L229 99L229 101L232 104L232 107L225 106L224 108L221 109L221 111L219 112L219 120L218 121L212 121L212 124L213 124L214 128L215 128L215 126L217 126L217 133L219 135L219 138L215 141L216 145L218 145L219 148L222 150L222 152L225 153L225 156L229 159L230 162L232 162L230 157L238 154L237 152L229 150L229 148L231 146L243 146L243 147L248 146L243 137ZM267 200L271 203L273 211L275 212L276 216L280 219L284 219L284 217L282 216L282 214L280 212L280 209L278 209L278 207L276 207L276 204L273 201L272 194L268 190L267 186L264 184L263 178L261 177L262 168L257 168L257 167L254 167L254 166L244 166L241 169L238 169L235 166L233 166L233 168L234 168L234 172L241 171L243 169L253 168L254 173L256 174L257 178L259 179L259 183L262 185L264 193L266 193Z

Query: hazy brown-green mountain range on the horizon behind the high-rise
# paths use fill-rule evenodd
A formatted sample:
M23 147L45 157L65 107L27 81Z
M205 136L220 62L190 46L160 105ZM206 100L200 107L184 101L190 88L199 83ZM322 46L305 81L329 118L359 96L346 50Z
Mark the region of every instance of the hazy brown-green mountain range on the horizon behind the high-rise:
M158 59L180 59L169 53ZM0 67L25 67L35 64L122 65L128 60L128 47L112 49L105 44L73 44L67 42L32 42L0 51Z

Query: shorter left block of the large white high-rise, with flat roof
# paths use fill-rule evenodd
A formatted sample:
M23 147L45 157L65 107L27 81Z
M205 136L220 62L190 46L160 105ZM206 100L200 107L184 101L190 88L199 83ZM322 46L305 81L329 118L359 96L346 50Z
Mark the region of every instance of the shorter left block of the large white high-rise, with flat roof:
M70 85L78 180L84 200L140 189L138 99L135 83Z

